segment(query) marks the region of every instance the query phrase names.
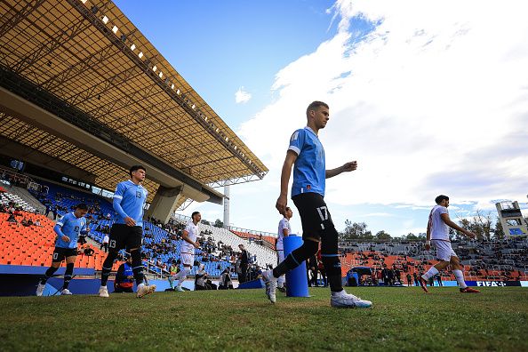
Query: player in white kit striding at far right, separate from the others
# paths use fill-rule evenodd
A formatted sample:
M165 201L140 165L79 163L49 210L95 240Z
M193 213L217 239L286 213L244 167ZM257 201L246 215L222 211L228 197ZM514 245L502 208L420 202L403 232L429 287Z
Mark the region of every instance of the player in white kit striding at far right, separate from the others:
M426 239L425 249L428 251L431 244L436 247L436 257L438 264L428 269L428 272L419 277L420 285L423 291L428 292L427 281L430 277L436 276L440 270L446 268L451 264L452 273L457 279L462 293L478 293L480 291L468 287L464 281L464 274L462 273L462 266L460 265L459 257L452 250L451 241L449 239L449 228L460 231L462 234L475 238L476 235L467 229L460 228L457 224L449 219L448 196L437 196L435 199L436 205L429 214L428 233Z

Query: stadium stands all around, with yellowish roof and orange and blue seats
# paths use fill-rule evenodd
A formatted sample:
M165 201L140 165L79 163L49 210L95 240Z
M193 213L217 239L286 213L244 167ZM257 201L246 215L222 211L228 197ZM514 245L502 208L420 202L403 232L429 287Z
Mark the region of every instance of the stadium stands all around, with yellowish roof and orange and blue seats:
M0 275L23 276L17 293L34 292L52 260L54 220L85 203L91 231L76 273L98 276L113 190L130 165L143 164L143 264L151 280L164 279L189 220L176 211L221 204L218 188L261 180L267 167L111 1L0 0L0 11ZM237 277L239 244L251 277L276 263L275 234L199 227L196 260L210 277L226 269ZM454 248L469 280L527 279L525 238ZM414 284L407 274L436 263L420 242L348 241L340 251L342 276L369 269L356 284Z

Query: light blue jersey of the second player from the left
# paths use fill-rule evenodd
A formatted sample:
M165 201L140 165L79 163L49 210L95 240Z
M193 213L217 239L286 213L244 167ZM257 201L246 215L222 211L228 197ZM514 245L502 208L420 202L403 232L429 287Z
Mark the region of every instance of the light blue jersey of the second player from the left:
M124 224L124 218L129 216L136 221L136 226L142 226L143 206L147 202L147 195L147 189L136 185L132 180L118 183L114 193L116 224Z

